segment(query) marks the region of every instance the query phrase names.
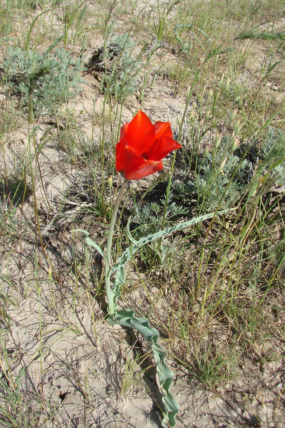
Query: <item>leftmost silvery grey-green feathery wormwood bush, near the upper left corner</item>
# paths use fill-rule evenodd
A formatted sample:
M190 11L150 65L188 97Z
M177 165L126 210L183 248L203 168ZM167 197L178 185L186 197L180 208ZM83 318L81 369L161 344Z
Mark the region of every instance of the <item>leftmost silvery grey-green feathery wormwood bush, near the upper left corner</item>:
M71 52L56 49L54 54L50 54L49 49L39 53L12 47L3 61L2 80L6 83L6 89L20 97L26 108L30 102L31 77L39 69L48 72L37 78L33 88L34 116L51 113L55 106L60 106L74 97L75 93L80 91L79 83L83 82L80 78L80 59L74 61Z

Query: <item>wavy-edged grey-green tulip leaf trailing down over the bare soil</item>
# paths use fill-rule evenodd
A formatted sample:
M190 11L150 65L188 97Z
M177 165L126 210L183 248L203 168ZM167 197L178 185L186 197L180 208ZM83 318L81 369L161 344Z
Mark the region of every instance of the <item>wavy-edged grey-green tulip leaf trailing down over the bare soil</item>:
M135 317L134 314L133 309L122 309L117 311L114 316L107 318L107 321L112 325L119 324L121 327L137 330L147 340L154 356L164 405L164 417L161 425L163 428L175 427L175 416L179 411L179 404L169 392L174 373L165 362L167 351L157 343L159 338L157 329L150 327L148 319Z

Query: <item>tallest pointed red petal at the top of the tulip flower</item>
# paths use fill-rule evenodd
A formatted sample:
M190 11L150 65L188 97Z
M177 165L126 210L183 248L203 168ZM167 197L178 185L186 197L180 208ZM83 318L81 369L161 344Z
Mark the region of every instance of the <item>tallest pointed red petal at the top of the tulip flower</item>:
M154 137L154 125L142 110L139 110L133 120L129 123L125 138L127 144L133 147L136 153L141 155L144 149Z

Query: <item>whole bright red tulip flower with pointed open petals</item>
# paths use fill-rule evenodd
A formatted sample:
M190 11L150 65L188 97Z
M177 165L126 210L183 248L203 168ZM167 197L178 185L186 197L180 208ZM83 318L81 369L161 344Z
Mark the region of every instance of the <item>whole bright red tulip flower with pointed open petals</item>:
M152 125L142 110L121 129L116 145L116 169L126 180L140 180L163 168L161 160L181 145L172 139L169 122Z

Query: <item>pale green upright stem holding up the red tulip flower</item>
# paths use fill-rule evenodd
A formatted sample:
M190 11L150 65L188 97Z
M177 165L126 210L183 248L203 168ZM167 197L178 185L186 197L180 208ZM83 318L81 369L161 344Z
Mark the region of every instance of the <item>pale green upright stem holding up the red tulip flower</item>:
M118 209L122 200L123 193L125 192L125 189L127 187L127 184L128 184L128 180L125 180L117 196L117 199L113 208L112 217L110 220L110 226L109 226L109 232L108 232L108 238L107 238L106 261L105 261L105 289L106 289L107 302L108 302L108 313L110 316L114 315L114 303L113 303L113 297L112 297L111 286L110 286L111 250L112 250L112 244L113 244L113 235L114 235L116 217L117 217Z

